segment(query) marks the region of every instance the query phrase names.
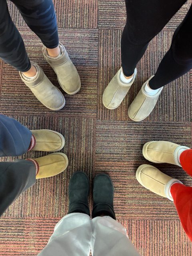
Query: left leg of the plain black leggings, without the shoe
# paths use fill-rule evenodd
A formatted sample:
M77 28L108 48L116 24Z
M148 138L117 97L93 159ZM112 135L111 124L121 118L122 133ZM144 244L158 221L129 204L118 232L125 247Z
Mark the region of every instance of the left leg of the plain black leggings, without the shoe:
M186 0L126 0L127 21L122 34L122 68L131 76L148 43Z

